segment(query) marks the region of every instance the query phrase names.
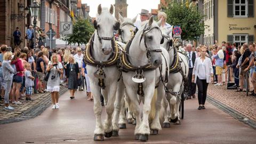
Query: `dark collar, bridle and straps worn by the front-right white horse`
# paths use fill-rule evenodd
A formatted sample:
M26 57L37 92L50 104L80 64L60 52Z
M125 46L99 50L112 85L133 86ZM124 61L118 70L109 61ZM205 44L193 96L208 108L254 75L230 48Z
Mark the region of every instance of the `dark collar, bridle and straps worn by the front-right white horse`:
M147 26L147 24L146 24ZM140 43L141 43L141 40L142 38L144 38L144 44L145 44L145 47L146 47L146 50L147 50L147 58L151 59L151 54L150 52L161 52L162 53L162 50L161 49L156 49L156 50L149 50L148 49L148 46L146 44L146 34L154 29L154 28L157 28L159 29L158 27L153 27L153 28L145 28L143 29L143 32L142 32L142 35L141 35L141 38L140 38ZM159 29L160 30L160 29ZM125 73L129 72L129 71L132 71L132 72L135 72L135 75L133 77L138 77L138 78L144 78L143 77L143 72L144 71L151 71L151 70L156 70L157 68L156 67L153 67L150 63L148 63L147 65L143 65L143 66L134 66L132 65L132 63L129 61L128 59L128 55L129 55L129 50L130 50L130 46L131 46L131 43L133 41L133 38L134 38L134 34L132 34L131 38L129 39L129 41L127 42L126 46L125 46L125 49L124 49L124 52L121 53L121 55L119 55L119 63L118 63L118 68L120 71L123 71ZM161 43L162 41L164 41L164 39L162 38L161 40ZM163 53L162 53L163 55ZM165 79L163 78L162 76L162 65L161 67L159 67L159 71L161 73L161 77L160 77L160 81L162 82L165 82L167 83L168 81L168 66L167 66L167 60L166 58L164 57L165 59L165 63L166 63L166 71L165 71ZM164 79L164 80L163 80ZM159 81L159 82L160 82ZM159 82L157 83L156 87L158 86ZM155 87L155 88L156 88ZM137 91L137 94L138 95L141 95L141 97L144 96L144 91L143 91L143 82L141 83L138 83L138 91Z

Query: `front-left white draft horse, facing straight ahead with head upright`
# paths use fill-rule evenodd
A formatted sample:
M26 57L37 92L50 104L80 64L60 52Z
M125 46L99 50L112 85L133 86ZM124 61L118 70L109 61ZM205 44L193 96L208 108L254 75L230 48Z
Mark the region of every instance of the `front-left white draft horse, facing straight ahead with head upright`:
M119 22L113 17L113 12L113 5L111 5L110 10L102 9L101 5L98 6L98 14L93 23L94 35L85 51L85 61L87 62L91 91L94 96L95 141L104 140L104 136L109 138L113 134L111 120L117 89L117 75L119 74L116 68L118 49L114 40L114 30L119 29ZM101 122L100 91L106 102L107 118L104 125Z

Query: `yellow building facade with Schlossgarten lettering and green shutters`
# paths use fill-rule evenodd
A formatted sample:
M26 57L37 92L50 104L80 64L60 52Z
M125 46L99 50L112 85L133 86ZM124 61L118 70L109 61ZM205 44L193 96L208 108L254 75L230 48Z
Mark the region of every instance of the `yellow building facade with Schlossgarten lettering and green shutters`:
M237 45L255 42L256 0L205 0L199 3L207 25L203 44L212 45L214 40Z

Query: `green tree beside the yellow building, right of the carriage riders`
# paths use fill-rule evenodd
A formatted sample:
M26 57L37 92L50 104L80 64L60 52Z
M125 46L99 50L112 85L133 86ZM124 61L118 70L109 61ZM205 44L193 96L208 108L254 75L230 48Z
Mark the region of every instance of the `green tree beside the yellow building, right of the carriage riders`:
M181 38L183 40L196 40L204 34L204 15L197 10L197 7L188 8L185 3L171 2L165 7L167 23L173 26L180 26L182 29Z

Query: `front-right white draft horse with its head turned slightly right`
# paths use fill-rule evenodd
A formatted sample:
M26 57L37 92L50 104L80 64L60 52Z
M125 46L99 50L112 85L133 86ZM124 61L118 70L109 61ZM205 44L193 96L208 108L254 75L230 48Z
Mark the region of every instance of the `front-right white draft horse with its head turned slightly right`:
M122 75L125 92L131 100L130 105L137 121L134 131L135 139L147 141L150 129L153 134L157 134L158 130L162 129L159 122L159 111L165 92L164 80L161 80L165 78L166 71L169 71L169 54L160 46L163 39L162 33L153 17L143 24L132 42L127 44L130 45L130 48L128 49L129 46L126 46L125 54L129 60L127 63L123 57L122 62L126 63L124 65L127 69L132 70L128 70L127 73L123 72ZM146 69L150 70L146 71ZM157 92L155 86L158 86ZM142 121L137 94L143 101ZM157 98L154 99L156 101L152 101L153 95L157 95ZM151 103L154 103L155 114L149 126L149 113L150 110L154 110L153 107L151 108Z

